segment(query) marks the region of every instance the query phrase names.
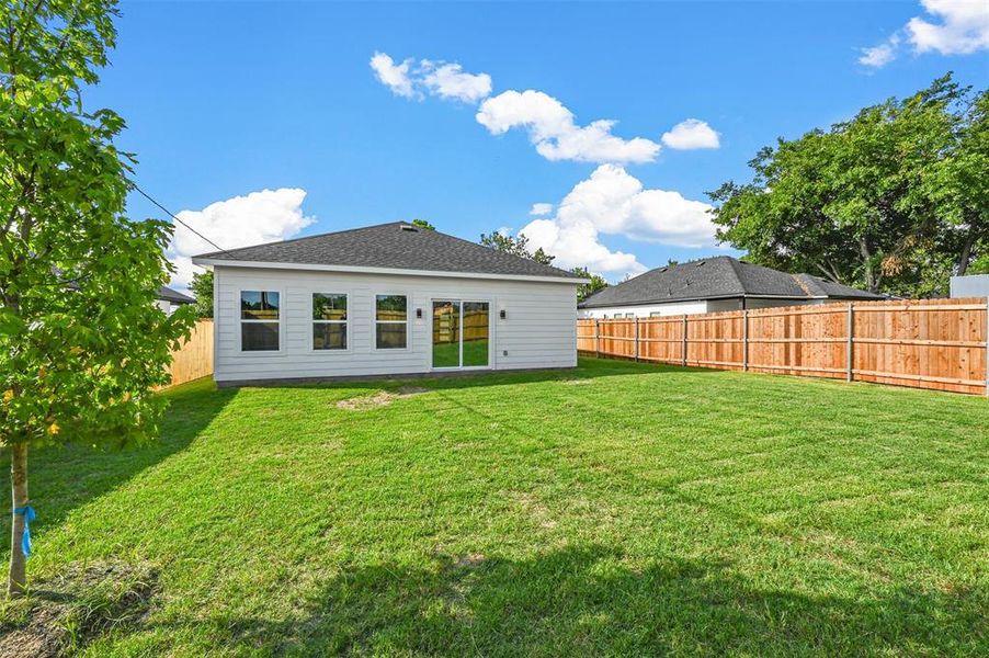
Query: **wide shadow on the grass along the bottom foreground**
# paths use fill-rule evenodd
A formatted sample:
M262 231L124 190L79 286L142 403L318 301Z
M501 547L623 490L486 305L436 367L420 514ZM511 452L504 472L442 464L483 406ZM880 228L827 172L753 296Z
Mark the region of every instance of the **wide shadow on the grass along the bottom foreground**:
M263 655L976 655L987 648L986 604L975 591L775 591L725 564L634 570L613 551L567 547L523 560L360 567L327 580L288 620L189 623L207 624L217 647Z

